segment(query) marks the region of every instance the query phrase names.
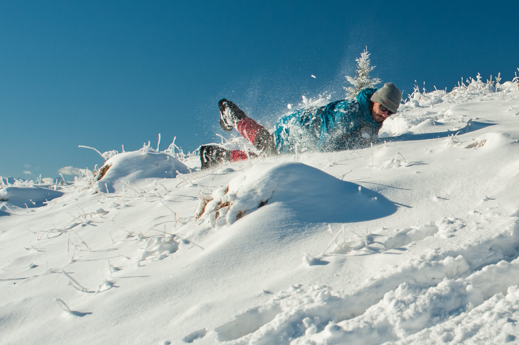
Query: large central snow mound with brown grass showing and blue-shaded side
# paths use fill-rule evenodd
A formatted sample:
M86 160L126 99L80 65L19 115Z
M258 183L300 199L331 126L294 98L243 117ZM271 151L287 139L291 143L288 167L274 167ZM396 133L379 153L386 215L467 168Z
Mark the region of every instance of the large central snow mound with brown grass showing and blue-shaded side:
M294 217L309 223L363 222L397 210L394 203L377 192L309 165L290 162L270 169L263 164L255 165L228 186L201 198L197 214L207 217L212 225L222 226L276 202L282 203Z

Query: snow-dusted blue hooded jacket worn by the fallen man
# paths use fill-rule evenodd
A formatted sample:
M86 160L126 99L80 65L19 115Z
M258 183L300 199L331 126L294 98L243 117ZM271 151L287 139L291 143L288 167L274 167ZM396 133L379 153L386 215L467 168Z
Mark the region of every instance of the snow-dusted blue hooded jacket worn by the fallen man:
M382 123L373 121L370 99L377 89L366 88L356 100L335 101L299 109L276 123L274 140L279 153L339 151L374 143Z

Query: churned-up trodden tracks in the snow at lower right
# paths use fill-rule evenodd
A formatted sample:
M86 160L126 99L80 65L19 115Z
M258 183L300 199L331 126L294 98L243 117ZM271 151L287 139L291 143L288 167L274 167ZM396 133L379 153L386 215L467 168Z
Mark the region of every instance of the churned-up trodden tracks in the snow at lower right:
M398 248L429 236L450 238L465 226L461 219L444 217L435 224L403 229L392 237L372 237L371 242L363 238L358 242ZM329 254L362 249L360 243L345 243L337 244ZM485 241L408 261L351 295L342 296L324 285L292 285L267 305L245 311L214 331L217 339L226 344L292 345L326 344L331 340L405 342L419 332L436 329L440 333L438 329L444 323L477 314L480 309L492 309L490 305L495 305L496 300L517 301L519 311L518 247L516 221ZM456 336L453 333L449 337Z

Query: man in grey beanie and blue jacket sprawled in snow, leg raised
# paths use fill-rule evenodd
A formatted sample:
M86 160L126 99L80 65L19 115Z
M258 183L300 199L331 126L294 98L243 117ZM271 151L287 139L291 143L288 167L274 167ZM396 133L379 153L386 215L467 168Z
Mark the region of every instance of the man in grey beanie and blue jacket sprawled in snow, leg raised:
M294 153L296 149L325 152L369 146L376 141L382 122L397 112L401 101L402 92L392 82L386 82L379 89L363 89L357 100L335 101L283 115L272 134L233 102L222 99L218 107L223 130L236 128L260 153L278 155ZM256 156L218 145L200 147L202 169L247 159L247 154Z

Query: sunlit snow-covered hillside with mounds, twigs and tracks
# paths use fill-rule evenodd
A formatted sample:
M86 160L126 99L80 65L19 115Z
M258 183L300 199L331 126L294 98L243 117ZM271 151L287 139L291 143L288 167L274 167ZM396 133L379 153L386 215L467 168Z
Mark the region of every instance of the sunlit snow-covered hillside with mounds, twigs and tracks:
M516 84L473 81L372 148L7 186L0 341L515 343L518 115Z

